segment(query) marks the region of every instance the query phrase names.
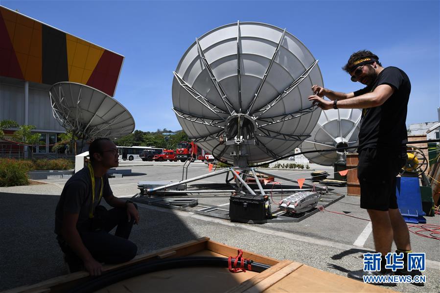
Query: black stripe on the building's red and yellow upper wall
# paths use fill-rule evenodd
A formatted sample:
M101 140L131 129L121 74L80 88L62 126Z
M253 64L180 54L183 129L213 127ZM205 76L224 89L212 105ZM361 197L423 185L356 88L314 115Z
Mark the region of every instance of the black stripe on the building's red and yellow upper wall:
M42 25L43 83L53 85L69 81L66 34Z

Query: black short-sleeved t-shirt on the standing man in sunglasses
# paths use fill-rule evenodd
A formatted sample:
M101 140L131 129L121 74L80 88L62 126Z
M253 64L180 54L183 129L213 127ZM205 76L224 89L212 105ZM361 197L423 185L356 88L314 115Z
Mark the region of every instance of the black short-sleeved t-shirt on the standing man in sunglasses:
M401 69L387 67L379 73L371 87L355 91L354 96L371 92L380 85L390 85L394 93L381 106L363 109L358 152L370 147L392 152L405 151L410 80Z

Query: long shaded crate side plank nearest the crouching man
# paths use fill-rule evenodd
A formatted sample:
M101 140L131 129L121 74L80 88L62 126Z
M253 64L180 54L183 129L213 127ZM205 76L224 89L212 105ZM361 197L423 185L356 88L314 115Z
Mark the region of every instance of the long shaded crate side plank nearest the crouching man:
M159 255L163 255L172 252L172 256L179 257L194 253L199 250L206 249L206 244L209 241L208 237L198 238L197 240L190 240L185 243L176 244L167 248L162 248L155 250L153 252L137 255L134 259L129 262L118 264L118 265L104 265L103 271L114 270L137 264L140 262L148 261L157 258ZM18 288L11 289L7 293L18 293L18 292L37 292L38 290L45 290L51 288L53 291L63 291L66 288L71 287L78 281L84 281L86 278L90 277L87 271L78 271L67 275L62 275L55 277L34 285L22 286Z

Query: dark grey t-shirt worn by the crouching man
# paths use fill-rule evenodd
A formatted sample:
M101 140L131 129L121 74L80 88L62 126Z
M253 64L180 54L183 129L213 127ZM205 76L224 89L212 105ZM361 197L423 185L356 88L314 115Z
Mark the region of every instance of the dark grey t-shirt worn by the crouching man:
M102 197L113 196L107 174L103 177L104 189ZM100 203L99 194L101 191L101 178L95 177L95 198L94 208ZM61 235L64 213L79 214L76 228L78 231L89 229L89 213L92 207L92 179L88 167L76 172L64 185L60 200L55 210L55 233Z

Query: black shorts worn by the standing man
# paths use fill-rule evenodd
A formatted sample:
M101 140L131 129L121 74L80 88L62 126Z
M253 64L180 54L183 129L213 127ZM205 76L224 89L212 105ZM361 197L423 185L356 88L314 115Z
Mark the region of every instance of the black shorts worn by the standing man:
M361 208L387 211L397 208L396 176L407 160L406 153L366 148L359 152L357 177Z

